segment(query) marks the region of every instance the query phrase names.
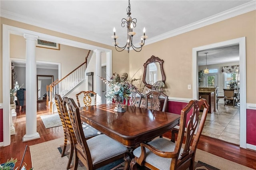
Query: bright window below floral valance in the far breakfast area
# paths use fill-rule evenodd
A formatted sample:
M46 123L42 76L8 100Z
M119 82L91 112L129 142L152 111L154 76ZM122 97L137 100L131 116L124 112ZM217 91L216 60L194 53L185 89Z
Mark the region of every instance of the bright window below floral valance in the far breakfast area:
M240 86L240 76L238 73L224 73L224 88L234 89Z

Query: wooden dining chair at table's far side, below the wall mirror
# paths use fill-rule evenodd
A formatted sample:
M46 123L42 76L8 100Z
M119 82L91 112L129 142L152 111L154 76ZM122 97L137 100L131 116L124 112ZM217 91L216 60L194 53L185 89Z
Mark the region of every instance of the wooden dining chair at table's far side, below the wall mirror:
M161 108L161 103L159 101L160 97L164 98L164 105L162 106L162 111L165 112L167 102L168 102L168 96L163 92L150 91L148 94L146 94L145 108L148 109L148 105L150 105L151 109L160 111L160 108ZM149 98L151 98L151 100L148 100Z

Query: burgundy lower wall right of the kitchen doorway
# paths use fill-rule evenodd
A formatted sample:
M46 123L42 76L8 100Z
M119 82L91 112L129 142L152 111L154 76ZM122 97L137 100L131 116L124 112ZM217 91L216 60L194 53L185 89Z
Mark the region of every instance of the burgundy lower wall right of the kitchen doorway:
M246 143L256 145L256 110L247 109Z

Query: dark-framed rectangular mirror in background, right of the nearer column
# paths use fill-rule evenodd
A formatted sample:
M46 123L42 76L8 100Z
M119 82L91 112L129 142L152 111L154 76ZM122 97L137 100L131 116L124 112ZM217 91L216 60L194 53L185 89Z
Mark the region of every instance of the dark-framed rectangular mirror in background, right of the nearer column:
M37 79L37 101L46 101L46 85L53 82L53 75L36 75ZM49 96L49 94L48 94Z

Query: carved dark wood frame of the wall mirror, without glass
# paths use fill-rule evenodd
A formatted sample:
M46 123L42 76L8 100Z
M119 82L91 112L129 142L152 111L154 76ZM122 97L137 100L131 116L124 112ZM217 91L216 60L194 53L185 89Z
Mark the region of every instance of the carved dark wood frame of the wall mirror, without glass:
M164 73L164 67L163 67L163 63L164 63L164 60L158 58L158 57L155 57L154 55L152 55L147 61L146 63L144 63L144 73L143 73L143 78L142 78L142 82L146 85L146 87L148 87L149 89L152 88L152 85L148 84L146 82L146 73L147 73L147 67L148 67L148 64L150 63L154 63L154 62L158 62L160 64L160 69L161 69L161 74L162 74L162 81L165 83L165 73Z

